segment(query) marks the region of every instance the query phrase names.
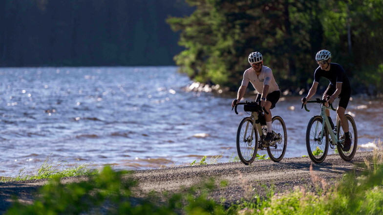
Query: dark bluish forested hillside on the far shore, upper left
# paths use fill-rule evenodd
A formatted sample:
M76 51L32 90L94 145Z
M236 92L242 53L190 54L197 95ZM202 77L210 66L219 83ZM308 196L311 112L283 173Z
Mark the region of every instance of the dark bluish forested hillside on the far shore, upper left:
M1 0L0 66L174 65L184 0Z

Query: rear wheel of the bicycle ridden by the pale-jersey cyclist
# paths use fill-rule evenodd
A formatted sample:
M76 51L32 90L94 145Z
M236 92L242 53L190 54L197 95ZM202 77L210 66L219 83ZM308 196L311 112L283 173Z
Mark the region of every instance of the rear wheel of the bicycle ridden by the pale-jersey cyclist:
M274 133L274 143L267 147L267 154L269 154L271 160L278 162L285 155L287 148L286 125L281 117L274 116L272 120L272 128Z

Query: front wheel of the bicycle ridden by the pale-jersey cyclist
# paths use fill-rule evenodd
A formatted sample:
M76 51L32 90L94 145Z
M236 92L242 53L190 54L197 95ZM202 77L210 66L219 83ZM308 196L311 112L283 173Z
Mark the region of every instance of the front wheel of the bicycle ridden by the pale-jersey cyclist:
M237 152L242 163L251 164L256 156L258 135L253 128L253 119L245 117L241 120L237 131Z

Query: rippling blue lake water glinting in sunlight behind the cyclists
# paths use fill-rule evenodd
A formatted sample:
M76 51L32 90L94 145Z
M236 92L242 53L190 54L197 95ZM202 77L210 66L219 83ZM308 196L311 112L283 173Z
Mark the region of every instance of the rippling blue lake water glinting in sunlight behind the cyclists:
M177 67L0 68L0 176L34 172L47 157L66 166L137 170L227 162L236 154L233 98L189 91ZM247 98L248 100L254 97ZM307 155L305 131L319 114L281 97L273 115L287 126L285 157ZM359 145L383 135L383 101L353 97ZM332 113L335 117L335 112ZM361 150L371 150L362 148ZM266 151L260 152L265 154ZM215 161L211 156L222 155Z

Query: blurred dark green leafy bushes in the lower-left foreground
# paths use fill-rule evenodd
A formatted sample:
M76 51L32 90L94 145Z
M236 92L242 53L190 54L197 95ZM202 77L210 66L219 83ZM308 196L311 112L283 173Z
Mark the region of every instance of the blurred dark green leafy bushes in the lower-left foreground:
M6 214L74 215L85 212L90 214L107 212L128 215L172 215L181 211L191 215L226 214L222 205L207 197L208 191L215 187L213 180L186 190L186 194L166 195L163 203L158 203L159 198L154 194L146 199L133 199L132 188L136 185L137 182L131 178L131 172L114 172L108 166L100 174L80 183L62 184L60 178L55 177L43 186L32 205L17 202ZM195 195L197 191L198 196Z

